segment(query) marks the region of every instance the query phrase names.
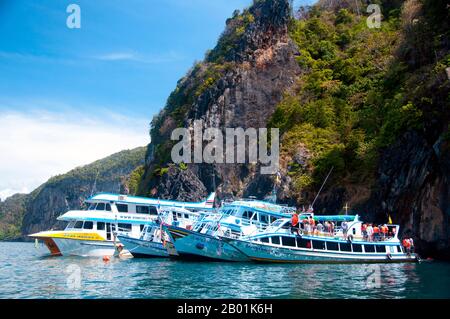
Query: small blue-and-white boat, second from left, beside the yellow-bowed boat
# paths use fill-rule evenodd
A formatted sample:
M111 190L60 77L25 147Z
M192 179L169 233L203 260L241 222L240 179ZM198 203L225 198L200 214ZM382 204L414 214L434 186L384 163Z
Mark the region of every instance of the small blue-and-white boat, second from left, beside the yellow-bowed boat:
M161 212L160 218L156 222L144 226L139 238L133 238L125 234L118 234L117 237L133 257L175 257L178 256L178 253L170 241L170 237L164 231L163 224L190 229L199 216L198 212L191 212L182 208L166 208Z

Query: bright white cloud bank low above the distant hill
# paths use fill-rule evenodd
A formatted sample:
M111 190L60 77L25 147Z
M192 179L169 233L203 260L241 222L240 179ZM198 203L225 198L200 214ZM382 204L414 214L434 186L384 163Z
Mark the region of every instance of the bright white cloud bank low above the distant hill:
M0 113L0 198L51 176L149 143L148 119L107 111Z

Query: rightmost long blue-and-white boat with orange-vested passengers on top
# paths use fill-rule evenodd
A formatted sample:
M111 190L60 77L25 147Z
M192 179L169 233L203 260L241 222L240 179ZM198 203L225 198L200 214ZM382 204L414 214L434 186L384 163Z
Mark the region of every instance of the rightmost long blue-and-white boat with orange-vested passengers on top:
M222 237L228 245L253 261L292 263L378 263L414 262L418 256L407 252L398 238L399 225L386 225L389 232L378 240L363 238L359 216L314 216L316 222L333 221L338 225L346 222L348 231L341 226L332 232L291 231L291 220L279 219L263 232L231 238ZM299 219L304 216L300 215Z

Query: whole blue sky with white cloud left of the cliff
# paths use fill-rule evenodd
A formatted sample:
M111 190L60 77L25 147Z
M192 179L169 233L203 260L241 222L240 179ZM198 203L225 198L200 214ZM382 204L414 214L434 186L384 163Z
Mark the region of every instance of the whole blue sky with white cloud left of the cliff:
M0 0L0 199L147 145L177 81L251 2Z

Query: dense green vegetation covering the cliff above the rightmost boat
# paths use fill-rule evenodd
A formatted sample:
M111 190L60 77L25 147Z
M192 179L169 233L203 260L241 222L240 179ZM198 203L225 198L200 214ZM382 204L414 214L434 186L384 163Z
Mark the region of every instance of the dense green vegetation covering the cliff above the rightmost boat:
M300 144L312 153L309 167L289 165L296 191L321 181L332 166L341 181L370 179L381 148L407 130L425 130L445 111L448 96L426 89L438 82L445 92L449 63L439 41L448 38L448 22L430 13L431 2L407 1L384 12L381 28L368 28L365 16L345 8L315 6L292 20L305 72L269 126L284 134L285 154L294 156Z

